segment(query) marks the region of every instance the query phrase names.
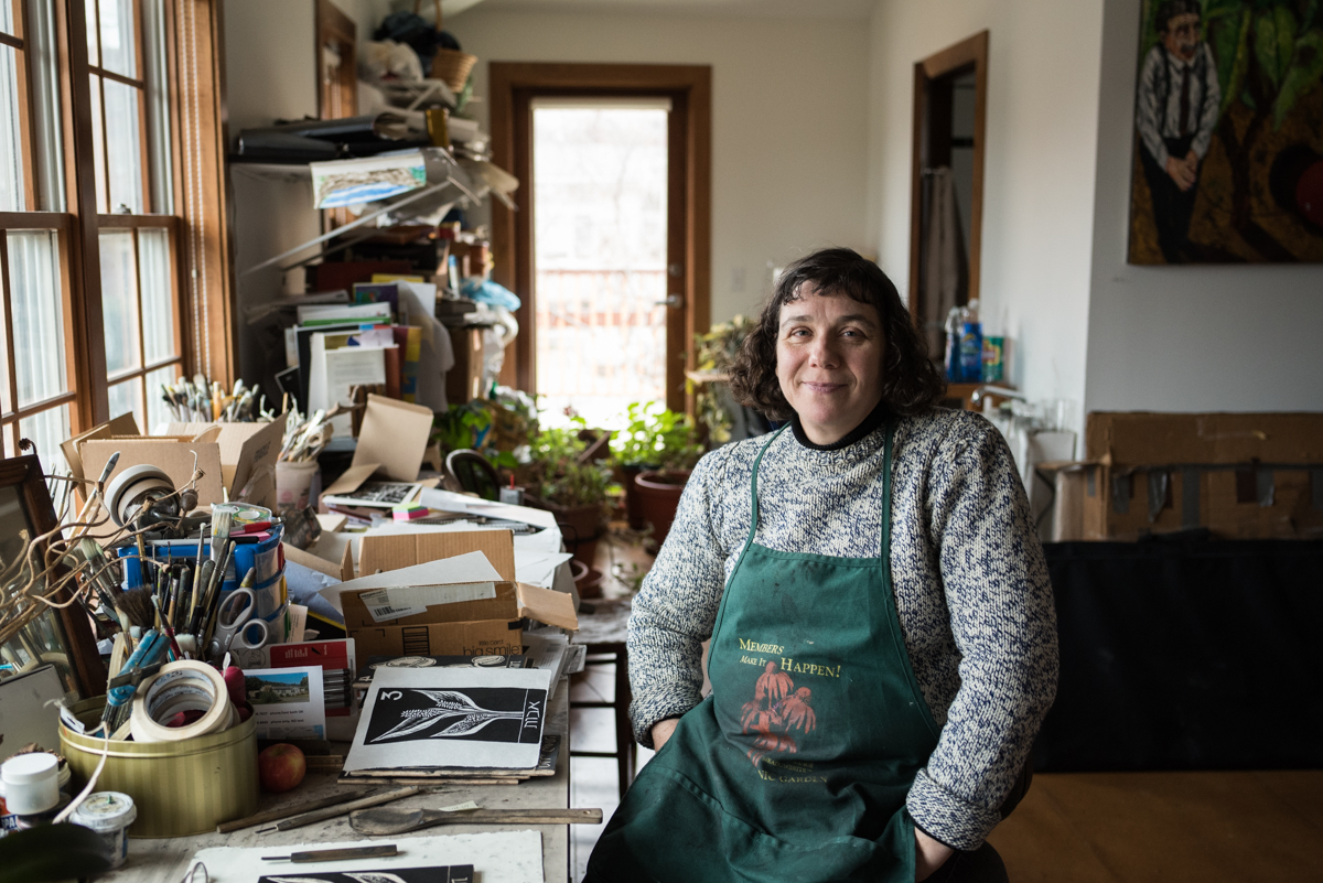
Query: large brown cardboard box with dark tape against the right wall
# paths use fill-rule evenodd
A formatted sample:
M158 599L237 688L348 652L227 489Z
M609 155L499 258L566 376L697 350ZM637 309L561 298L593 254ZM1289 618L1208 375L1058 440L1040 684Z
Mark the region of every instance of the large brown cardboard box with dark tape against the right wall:
M1053 538L1323 537L1323 414L1094 412L1085 436L1088 459L1057 471Z

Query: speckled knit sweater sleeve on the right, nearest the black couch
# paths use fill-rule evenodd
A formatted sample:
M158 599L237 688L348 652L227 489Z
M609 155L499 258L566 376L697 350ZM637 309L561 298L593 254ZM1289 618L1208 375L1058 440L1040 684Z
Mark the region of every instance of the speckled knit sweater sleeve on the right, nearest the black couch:
M960 686L906 806L935 839L974 850L1002 820L1056 697L1056 608L1024 486L991 424L958 420L938 445L929 486Z

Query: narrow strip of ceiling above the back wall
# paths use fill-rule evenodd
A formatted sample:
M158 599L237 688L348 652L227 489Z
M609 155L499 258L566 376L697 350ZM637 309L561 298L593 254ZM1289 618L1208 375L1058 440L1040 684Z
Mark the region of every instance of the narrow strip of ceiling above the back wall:
M446 15L482 4L492 12L639 12L863 21L876 0L446 0Z

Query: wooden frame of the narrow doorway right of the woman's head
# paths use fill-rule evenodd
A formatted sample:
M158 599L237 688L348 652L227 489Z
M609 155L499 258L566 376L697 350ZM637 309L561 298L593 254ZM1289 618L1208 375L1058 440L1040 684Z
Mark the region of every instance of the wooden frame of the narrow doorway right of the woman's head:
M927 145L929 98L934 79L960 69L974 69L974 192L970 197L970 299L979 296L979 267L983 250L983 157L988 94L988 32L947 46L914 65L914 143L910 160L910 283L909 309L919 319L918 289L923 239L923 156Z

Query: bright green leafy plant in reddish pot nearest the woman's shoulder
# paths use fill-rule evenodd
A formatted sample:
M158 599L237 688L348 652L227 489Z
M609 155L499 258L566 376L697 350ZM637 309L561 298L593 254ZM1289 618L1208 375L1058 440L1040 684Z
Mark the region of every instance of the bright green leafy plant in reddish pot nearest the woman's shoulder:
M626 420L611 439L611 453L624 473L630 527L643 530L651 523L652 541L660 547L703 445L688 415L669 411L660 402L630 404Z

